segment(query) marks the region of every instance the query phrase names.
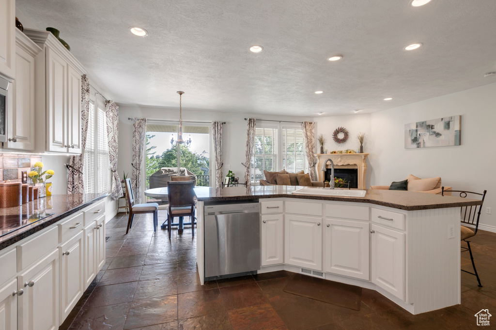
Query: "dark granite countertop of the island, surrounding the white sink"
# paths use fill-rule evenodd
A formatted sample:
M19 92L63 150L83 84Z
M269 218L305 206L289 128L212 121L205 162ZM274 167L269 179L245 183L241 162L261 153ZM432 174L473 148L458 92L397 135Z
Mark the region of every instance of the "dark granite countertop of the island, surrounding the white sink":
M261 198L300 198L322 201L358 202L417 211L482 205L480 200L455 196L441 196L413 191L367 189L365 197L312 196L292 194L299 186L251 186L213 189L196 187L199 201L234 201Z

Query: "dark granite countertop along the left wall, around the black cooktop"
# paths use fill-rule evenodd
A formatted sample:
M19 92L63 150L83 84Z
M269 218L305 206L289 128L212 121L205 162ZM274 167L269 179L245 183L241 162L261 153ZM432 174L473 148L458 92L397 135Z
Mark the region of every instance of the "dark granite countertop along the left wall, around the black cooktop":
M47 213L54 213L52 216L38 220L15 231L11 231L0 237L0 250L38 232L51 224L56 223L77 211L105 198L108 194L72 194L53 195L19 207L0 209L0 216L13 216L19 214L33 213L34 210L45 210ZM1 229L0 223L0 229Z

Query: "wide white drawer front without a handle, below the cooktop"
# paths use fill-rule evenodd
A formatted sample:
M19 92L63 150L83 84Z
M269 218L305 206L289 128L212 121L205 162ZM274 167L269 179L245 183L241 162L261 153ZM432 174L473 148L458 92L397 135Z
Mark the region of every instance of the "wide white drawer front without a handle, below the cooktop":
M53 227L43 234L17 245L17 270L20 272L31 263L52 251L59 243L59 230Z

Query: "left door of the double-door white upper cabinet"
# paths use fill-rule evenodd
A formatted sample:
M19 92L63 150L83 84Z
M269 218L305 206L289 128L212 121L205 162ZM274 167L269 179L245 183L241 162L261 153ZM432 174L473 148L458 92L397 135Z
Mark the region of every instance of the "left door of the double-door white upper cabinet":
M67 152L67 63L47 51L47 150Z

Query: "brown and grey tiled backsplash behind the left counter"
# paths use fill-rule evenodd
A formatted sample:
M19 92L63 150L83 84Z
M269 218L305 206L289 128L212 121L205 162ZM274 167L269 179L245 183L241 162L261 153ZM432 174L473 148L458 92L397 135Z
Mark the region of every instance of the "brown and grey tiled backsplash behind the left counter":
M0 154L0 181L20 182L21 172L27 171L29 173L36 162L41 162L40 155Z

